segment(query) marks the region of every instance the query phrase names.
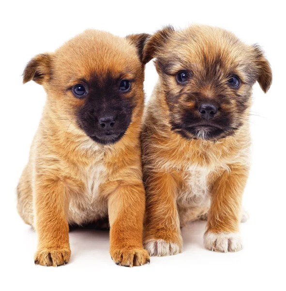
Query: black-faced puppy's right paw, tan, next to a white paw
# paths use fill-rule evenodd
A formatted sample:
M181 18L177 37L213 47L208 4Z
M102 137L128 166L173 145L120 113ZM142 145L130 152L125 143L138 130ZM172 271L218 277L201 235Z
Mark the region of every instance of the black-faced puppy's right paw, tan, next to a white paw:
M120 266L134 267L150 263L150 256L143 248L123 247L111 248L111 259Z

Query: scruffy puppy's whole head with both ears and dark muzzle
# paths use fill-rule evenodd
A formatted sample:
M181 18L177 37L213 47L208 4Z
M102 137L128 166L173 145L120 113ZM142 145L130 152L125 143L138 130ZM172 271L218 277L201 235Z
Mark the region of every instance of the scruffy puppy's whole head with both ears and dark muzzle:
M253 84L267 92L272 81L261 49L219 28L166 27L146 43L143 59L154 57L172 130L187 139L233 135L247 121Z

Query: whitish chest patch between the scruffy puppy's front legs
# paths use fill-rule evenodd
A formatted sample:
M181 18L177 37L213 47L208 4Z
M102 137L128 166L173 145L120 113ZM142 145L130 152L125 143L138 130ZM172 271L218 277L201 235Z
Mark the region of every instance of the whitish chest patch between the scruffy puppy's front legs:
M210 203L212 170L208 167L190 166L183 174L178 204L185 207L205 207Z

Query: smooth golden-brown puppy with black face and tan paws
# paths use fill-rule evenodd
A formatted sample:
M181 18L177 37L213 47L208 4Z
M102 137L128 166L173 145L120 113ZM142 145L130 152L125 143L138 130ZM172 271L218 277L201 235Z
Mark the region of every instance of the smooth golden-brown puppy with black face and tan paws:
M47 93L17 188L18 211L38 234L36 264L67 263L69 225L107 216L112 259L149 262L140 150L147 38L87 30L25 68L24 83L33 80Z

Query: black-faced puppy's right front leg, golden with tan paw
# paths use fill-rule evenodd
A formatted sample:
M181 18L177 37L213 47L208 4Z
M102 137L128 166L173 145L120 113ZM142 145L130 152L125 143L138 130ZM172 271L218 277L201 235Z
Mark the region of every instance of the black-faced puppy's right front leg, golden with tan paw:
M121 266L140 266L150 262L143 249L145 190L142 181L121 184L108 198L110 254Z

